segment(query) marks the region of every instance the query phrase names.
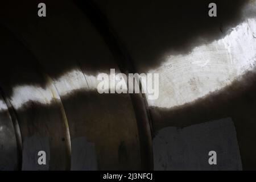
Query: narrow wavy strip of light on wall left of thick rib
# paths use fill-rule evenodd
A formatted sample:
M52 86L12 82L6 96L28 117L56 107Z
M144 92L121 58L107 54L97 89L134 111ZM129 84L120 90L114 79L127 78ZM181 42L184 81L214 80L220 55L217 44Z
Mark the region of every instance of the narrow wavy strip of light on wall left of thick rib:
M110 76L110 73L108 75ZM50 82L46 85L45 89L34 85L15 86L10 99L11 104L15 109L19 109L30 101L39 102L44 105L51 104L53 99L60 100L59 96L65 96L77 90L84 90L85 92L94 90L97 92L97 85L100 81L97 80L97 76L86 75L74 69L54 80L54 85L52 81ZM5 103L0 100L1 109L7 108Z

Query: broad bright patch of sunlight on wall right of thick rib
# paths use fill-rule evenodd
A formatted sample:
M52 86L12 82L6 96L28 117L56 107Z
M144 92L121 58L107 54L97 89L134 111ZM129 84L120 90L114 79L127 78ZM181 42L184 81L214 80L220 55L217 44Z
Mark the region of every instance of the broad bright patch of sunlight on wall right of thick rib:
M196 47L188 55L171 55L159 68L159 98L150 106L174 107L230 85L253 70L256 62L256 22L248 19L224 38Z

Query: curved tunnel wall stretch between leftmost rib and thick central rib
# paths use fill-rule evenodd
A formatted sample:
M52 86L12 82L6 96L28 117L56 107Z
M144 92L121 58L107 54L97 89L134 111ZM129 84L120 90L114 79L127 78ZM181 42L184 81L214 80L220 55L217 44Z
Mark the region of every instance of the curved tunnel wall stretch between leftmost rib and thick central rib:
M19 21L9 12L3 19L3 26L13 32L2 32L3 57L13 69L1 67L1 85L19 121L22 169L141 169L131 98L96 91L98 72L118 71L112 53L73 3L64 2L69 12L48 4L47 20L30 16L34 11L28 7L36 3L21 5L31 11ZM36 164L40 148L50 156L44 168Z

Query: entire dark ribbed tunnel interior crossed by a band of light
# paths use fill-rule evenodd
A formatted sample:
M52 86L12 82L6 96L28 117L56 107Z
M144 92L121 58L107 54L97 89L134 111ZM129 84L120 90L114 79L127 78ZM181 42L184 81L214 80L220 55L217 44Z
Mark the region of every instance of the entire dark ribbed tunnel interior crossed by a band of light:
M211 2L1 2L0 171L255 170L256 2ZM110 69L158 99L98 93Z

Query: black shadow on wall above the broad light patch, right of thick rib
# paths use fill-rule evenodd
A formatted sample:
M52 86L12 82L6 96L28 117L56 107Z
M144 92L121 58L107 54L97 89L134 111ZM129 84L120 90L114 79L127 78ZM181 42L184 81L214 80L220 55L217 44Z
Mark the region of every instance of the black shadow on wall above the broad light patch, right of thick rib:
M253 6L253 1L217 0L217 17L210 18L211 2L94 0L139 72L158 67L168 55L187 54L196 46L218 40L244 16L255 16L253 10L243 10L246 4Z

